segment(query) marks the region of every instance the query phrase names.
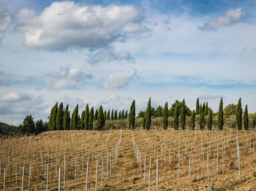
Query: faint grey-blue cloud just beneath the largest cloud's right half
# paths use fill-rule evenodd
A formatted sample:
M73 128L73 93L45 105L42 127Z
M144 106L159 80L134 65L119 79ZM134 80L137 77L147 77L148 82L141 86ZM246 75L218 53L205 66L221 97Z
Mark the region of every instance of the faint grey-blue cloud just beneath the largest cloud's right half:
M130 63L135 63L135 58L127 52L126 50L121 52L116 52L114 47L106 47L100 50L91 52L88 58L90 64L98 64L104 62L113 62L113 61L128 61Z

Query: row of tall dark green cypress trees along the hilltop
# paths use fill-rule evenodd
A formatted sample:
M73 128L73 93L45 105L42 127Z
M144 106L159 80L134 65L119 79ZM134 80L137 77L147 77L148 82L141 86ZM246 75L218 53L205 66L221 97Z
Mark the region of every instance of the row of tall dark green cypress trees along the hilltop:
M183 99L181 103L181 107L176 105L174 111L174 129L181 129L186 128L186 117L187 117L187 106L185 104L185 100ZM241 98L238 100L238 104L236 105L236 121L237 121L237 128L241 130L242 128L242 108L241 108ZM212 119L213 119L213 112L211 109L208 109L208 102L200 104L199 98L197 98L196 102L196 109L192 111L190 117L190 128L192 130L195 129L195 116L196 114L200 115L199 120L199 127L201 130L205 129L206 125L206 116L208 115L207 120L207 128L211 130L212 128ZM143 129L149 130L151 128L151 98L148 100L148 106L145 112L145 116L143 117ZM67 104L66 108L63 108L63 104L61 103L58 107L58 102L53 106L50 111L50 117L48 122L49 130L103 130L105 126L106 120L126 120L129 119L129 128L135 128L135 101L132 101L130 106L129 116L128 111L124 112L117 110L114 111L112 109L111 114L110 110L104 111L102 106L99 106L99 110L97 109L94 113L94 107L92 106L89 109L88 104L86 105L86 109L82 112L81 117L78 114L78 104L75 106L74 111L72 112L72 117L70 119L70 111L69 105ZM248 109L247 105L244 109L244 129L248 129ZM162 125L163 128L166 130L168 127L168 104L165 103L164 109L162 109ZM218 121L217 126L219 130L222 130L224 125L224 118L223 118L223 101L222 98L219 102L219 112L218 112Z

